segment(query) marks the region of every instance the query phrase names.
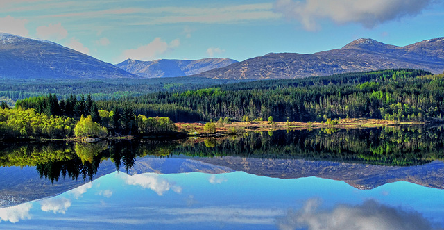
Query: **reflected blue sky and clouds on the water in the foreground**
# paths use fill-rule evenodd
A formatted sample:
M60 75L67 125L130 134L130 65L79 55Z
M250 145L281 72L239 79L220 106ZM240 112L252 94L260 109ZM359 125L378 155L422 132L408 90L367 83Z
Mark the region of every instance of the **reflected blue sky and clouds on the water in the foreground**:
M405 182L358 190L315 177L114 172L0 208L0 218L1 227L24 229L442 229L443 197L443 190Z

